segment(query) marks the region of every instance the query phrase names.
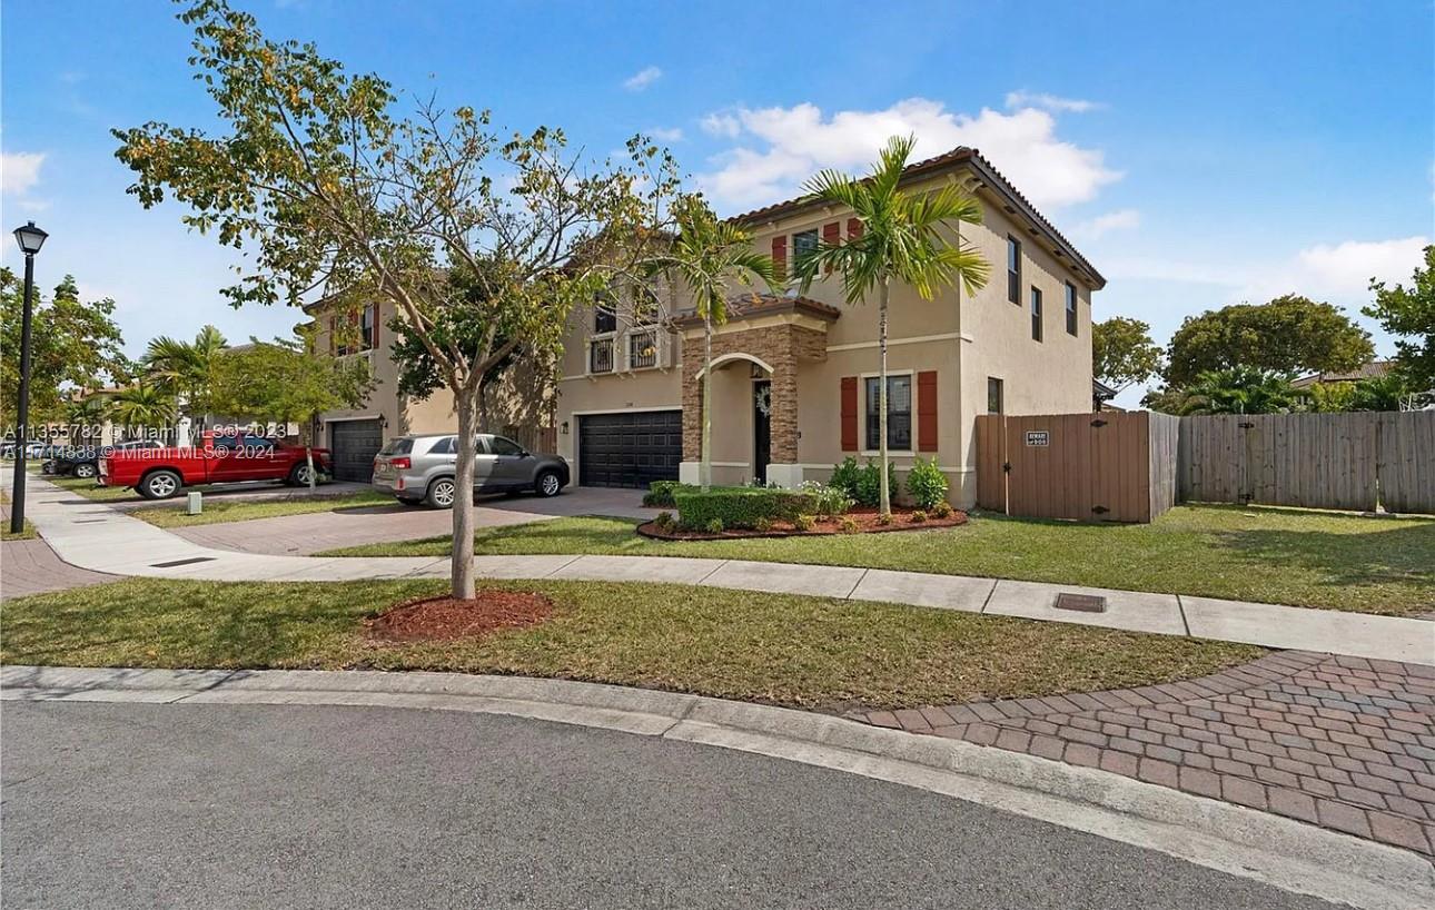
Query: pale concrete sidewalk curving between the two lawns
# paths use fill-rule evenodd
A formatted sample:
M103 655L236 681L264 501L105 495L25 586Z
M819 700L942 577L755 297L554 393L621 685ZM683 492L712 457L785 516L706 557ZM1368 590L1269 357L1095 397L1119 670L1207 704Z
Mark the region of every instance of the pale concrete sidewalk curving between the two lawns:
M30 484L30 521L62 560L92 571L212 581L350 581L449 574L446 557L301 557L204 547L44 481L32 478ZM745 560L481 555L475 567L488 578L666 581L878 600L1435 666L1435 623L1337 610ZM1058 609L1055 601L1060 593L1099 594L1106 599L1106 611Z

